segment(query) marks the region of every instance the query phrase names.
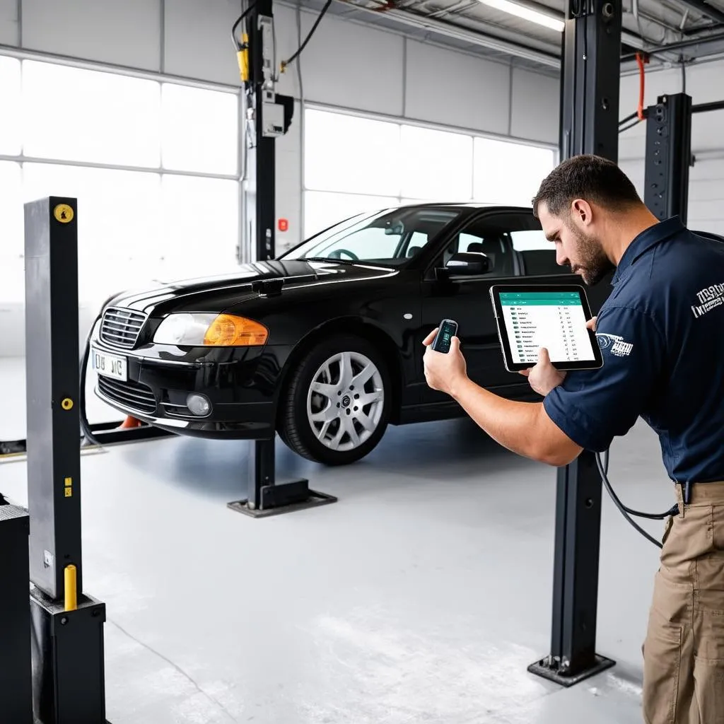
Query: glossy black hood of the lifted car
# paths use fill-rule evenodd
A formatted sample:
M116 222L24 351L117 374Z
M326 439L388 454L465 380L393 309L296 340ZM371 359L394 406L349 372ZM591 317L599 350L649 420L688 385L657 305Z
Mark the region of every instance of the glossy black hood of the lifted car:
M105 306L119 306L145 314L169 311L221 311L247 299L283 295L300 285L324 284L344 279L385 277L396 272L389 267L337 261L269 260L241 264L233 274L159 282L146 290L114 296Z

